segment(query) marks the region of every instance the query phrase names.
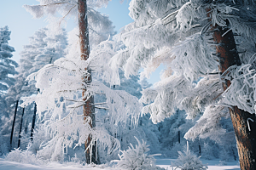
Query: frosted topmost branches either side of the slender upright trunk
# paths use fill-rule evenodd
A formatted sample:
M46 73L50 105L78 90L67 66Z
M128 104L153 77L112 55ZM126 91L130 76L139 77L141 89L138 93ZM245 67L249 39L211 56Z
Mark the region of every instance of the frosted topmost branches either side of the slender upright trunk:
M78 1L77 0L38 0L38 5L24 5L23 7L32 14L35 19L47 16L49 26L53 31L61 31L61 24L67 24L66 19L74 18L78 20ZM108 16L102 15L96 11L96 8L106 7L109 0L89 0L88 4L88 21L90 35L98 40L100 37L108 38L109 35L113 35L112 22L108 19ZM61 14L61 17L58 17ZM108 32L108 35L104 33ZM91 36L90 36L91 37ZM103 41L103 40L101 40ZM101 41L98 41L101 42Z

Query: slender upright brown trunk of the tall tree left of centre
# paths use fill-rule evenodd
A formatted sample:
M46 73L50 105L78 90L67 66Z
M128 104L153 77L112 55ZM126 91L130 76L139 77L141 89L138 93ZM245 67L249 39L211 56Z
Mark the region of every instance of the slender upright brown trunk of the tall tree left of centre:
M88 30L88 20L87 20L87 4L86 0L79 0L79 42L80 42L80 53L81 53L81 59L87 60L89 58L90 54L90 44L89 44L89 30ZM90 69L84 68L85 70L88 70L89 73L91 73ZM83 82L85 84L90 84L91 82L91 75L84 76ZM86 89L84 88L82 95L84 98L84 94L86 92ZM84 101L86 98L83 99ZM90 127L95 127L95 107L93 105L94 99L93 97L90 97L90 99L87 99L87 101L84 104L84 122L86 122L86 119L90 118L91 122ZM88 136L88 139L85 141L85 149L90 148L90 144L92 144L92 150L86 150L85 157L86 162L90 164L91 162L95 164L99 164L100 161L96 157L96 142L91 140L91 135Z

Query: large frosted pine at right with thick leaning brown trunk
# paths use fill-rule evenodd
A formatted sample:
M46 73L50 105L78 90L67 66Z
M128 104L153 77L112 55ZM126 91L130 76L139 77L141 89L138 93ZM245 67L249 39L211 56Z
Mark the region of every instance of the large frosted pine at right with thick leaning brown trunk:
M256 136L254 6L254 0L132 0L134 22L119 36L127 48L112 58L126 77L141 67L148 76L161 63L166 65L161 81L143 90L141 99L148 104L143 113L150 113L155 123L177 108L190 118L203 112L216 121L205 119L200 132L216 136L227 133L218 126L221 117L231 117L241 169L256 167L256 147L250 142ZM193 129L186 138L198 136Z

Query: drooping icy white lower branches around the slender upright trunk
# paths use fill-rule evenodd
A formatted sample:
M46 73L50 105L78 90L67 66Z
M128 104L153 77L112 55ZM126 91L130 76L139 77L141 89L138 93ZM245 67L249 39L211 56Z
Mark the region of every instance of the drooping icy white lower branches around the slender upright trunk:
M96 62L99 62L98 65L103 65L100 62L107 61L97 60L97 57L104 55L91 57L87 61L57 59L54 64L45 65L43 69L28 77L29 80L35 79L36 87L40 88L40 93L34 99L38 104L40 121L44 122L47 134L51 138L38 152L40 156L51 157L52 161L61 161L61 156L68 147L73 147L74 143L76 146L84 144L89 134L97 144L107 148L108 155L119 149L119 140L108 133L104 123L98 123L99 126L91 128L90 119L87 118L87 122L83 121L83 111L80 106L84 105L81 96L84 88L86 88L84 99L92 95L101 95L102 99L105 99L94 105L96 109L108 110L109 123L112 126L131 128L137 126L142 105L136 97L122 90L112 90L102 82L93 81L90 84L82 82L82 78L90 74L84 70L84 67L90 68L88 65ZM102 67L101 71L104 70L105 68ZM30 102L32 99L26 99L24 105Z

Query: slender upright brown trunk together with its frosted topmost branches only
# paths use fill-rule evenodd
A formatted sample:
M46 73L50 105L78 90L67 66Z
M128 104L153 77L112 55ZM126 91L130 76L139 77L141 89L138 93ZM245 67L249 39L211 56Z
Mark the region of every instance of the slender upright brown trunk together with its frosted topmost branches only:
M98 37L103 37L102 32L104 33L111 33L113 27L112 22L108 21L108 17L103 16L102 14L98 13L94 8L99 8L104 5L108 4L108 0L104 1L89 1L89 8L87 8L87 1L86 0L73 0L73 1L45 1L40 0L39 5L32 5L28 6L25 5L27 11L29 11L35 18L41 18L44 14L48 14L48 19L51 20L51 23L61 25L61 21L64 20L68 14L73 14L73 16L78 19L79 21L79 46L80 46L80 59L87 60L90 54L90 40L89 40L89 32L92 31L98 34ZM63 17L61 20L52 20L55 18L55 14L59 13ZM88 15L87 15L88 14ZM88 20L90 25L88 24ZM55 26L56 27L56 26ZM101 32L102 31L102 32ZM94 38L96 41L102 41L103 39ZM93 45L93 44L91 44ZM85 84L90 84L91 82L91 75L90 75L90 68L84 68L85 70L89 71L89 75L82 77ZM84 94L86 93L86 88L82 91L83 100L85 101L84 104L84 118L91 119L90 127L95 127L95 106L93 105L94 100L92 96L86 99ZM85 147L88 148L91 144L92 140L90 135L85 142ZM92 154L93 153L93 154ZM87 163L91 160L96 163L96 148L92 146L91 151L86 150L85 152ZM90 161L89 161L90 160Z

